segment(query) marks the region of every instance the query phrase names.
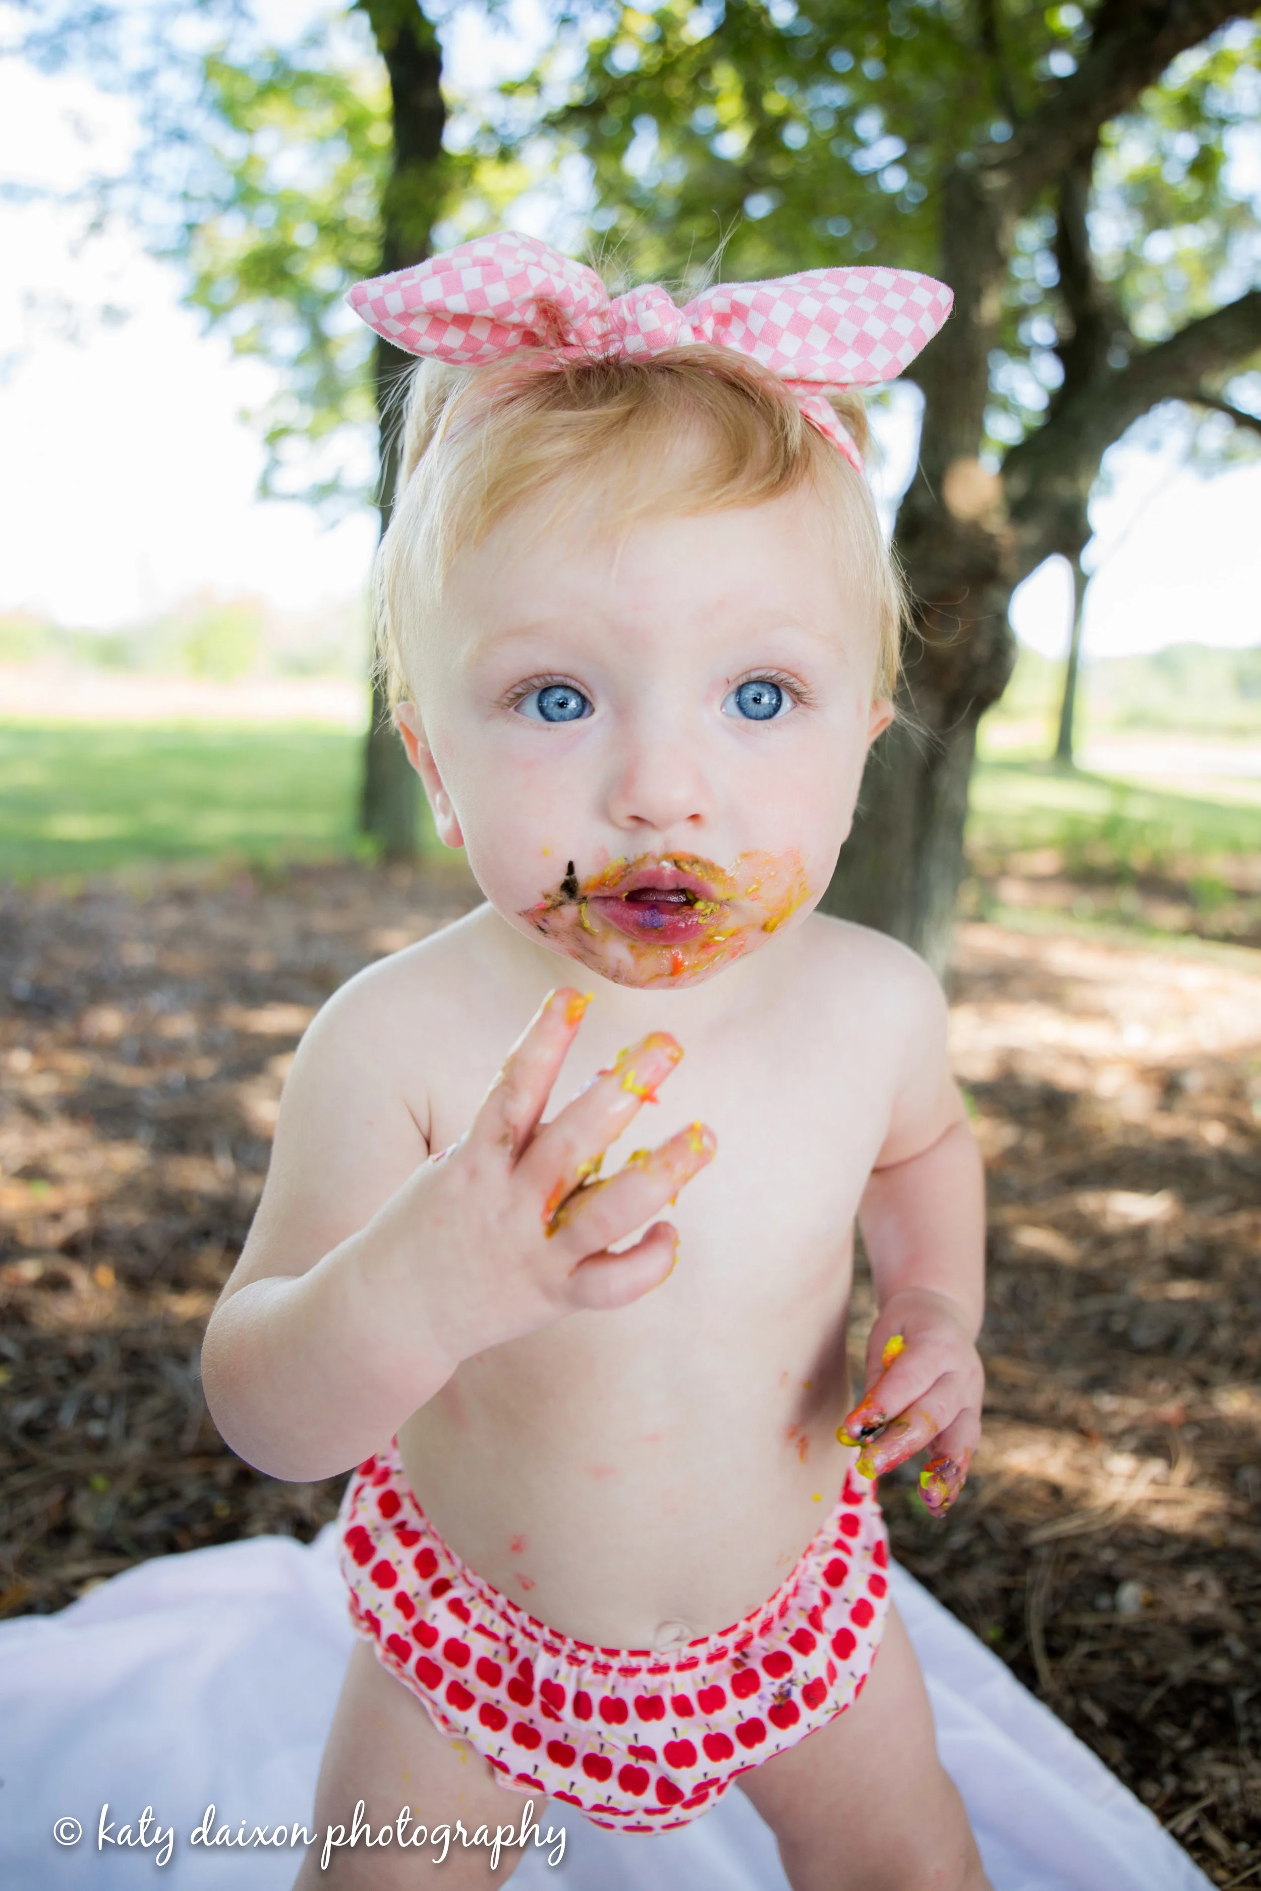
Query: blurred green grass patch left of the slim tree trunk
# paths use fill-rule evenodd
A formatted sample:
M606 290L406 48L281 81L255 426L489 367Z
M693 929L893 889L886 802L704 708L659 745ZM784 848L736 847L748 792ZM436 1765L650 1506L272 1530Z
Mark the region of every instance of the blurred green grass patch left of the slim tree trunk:
M304 724L0 724L0 877L350 855L359 737Z

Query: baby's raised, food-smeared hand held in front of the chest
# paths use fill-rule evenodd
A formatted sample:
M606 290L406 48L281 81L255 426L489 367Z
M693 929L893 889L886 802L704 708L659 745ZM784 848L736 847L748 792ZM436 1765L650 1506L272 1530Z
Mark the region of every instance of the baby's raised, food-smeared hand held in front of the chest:
M444 1276L437 1324L454 1358L569 1312L624 1307L660 1286L675 1263L669 1222L654 1222L631 1248L609 1250L713 1159L713 1131L692 1123L596 1180L609 1144L645 1102L656 1102L682 1051L667 1032L650 1032L543 1123L584 1010L580 993L550 993L467 1135L416 1176L427 1248Z

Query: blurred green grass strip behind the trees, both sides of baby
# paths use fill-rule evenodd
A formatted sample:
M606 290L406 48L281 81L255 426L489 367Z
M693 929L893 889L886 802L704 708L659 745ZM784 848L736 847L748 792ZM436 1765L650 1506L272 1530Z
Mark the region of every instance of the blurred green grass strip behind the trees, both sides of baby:
M293 722L0 724L0 877L359 853L359 739ZM1066 872L1089 877L1187 860L1210 876L1214 859L1261 849L1261 802L991 755L974 775L968 845L991 866L1053 847Z

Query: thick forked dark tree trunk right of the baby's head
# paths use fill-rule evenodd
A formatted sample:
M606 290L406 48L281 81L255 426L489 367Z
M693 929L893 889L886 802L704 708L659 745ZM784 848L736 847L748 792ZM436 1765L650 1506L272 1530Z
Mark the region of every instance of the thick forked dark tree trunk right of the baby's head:
M949 961L964 866L976 728L1002 696L1015 658L1011 592L1051 552L1080 558L1106 448L1157 401L1204 399L1206 390L1214 399L1221 374L1261 342L1261 291L1250 289L1144 348L1098 284L1089 248L1100 127L1178 51L1212 32L1225 6L1102 6L1091 55L1072 81L1051 91L1010 144L960 153L941 180L940 274L955 287L955 312L915 371L924 391L921 469L898 516L898 550L915 598L904 722L877 743L855 830L822 900L824 911L892 932L938 972ZM979 452L989 363L1013 231L1051 189L1064 382L1044 424L1008 452L1000 475L987 475ZM1123 346L1114 350L1117 337Z

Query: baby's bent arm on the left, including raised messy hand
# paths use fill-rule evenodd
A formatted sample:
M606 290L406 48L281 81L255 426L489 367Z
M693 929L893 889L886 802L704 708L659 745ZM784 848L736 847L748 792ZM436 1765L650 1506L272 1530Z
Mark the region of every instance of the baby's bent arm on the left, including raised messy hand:
M401 1099L335 1015L295 1061L259 1216L212 1314L206 1401L272 1477L331 1477L378 1450L461 1360L665 1278L675 1231L641 1227L713 1155L700 1123L590 1184L682 1055L652 1034L560 1116L543 1112L582 1017L552 993L471 1129L427 1155ZM378 1061L378 1059L376 1059Z

